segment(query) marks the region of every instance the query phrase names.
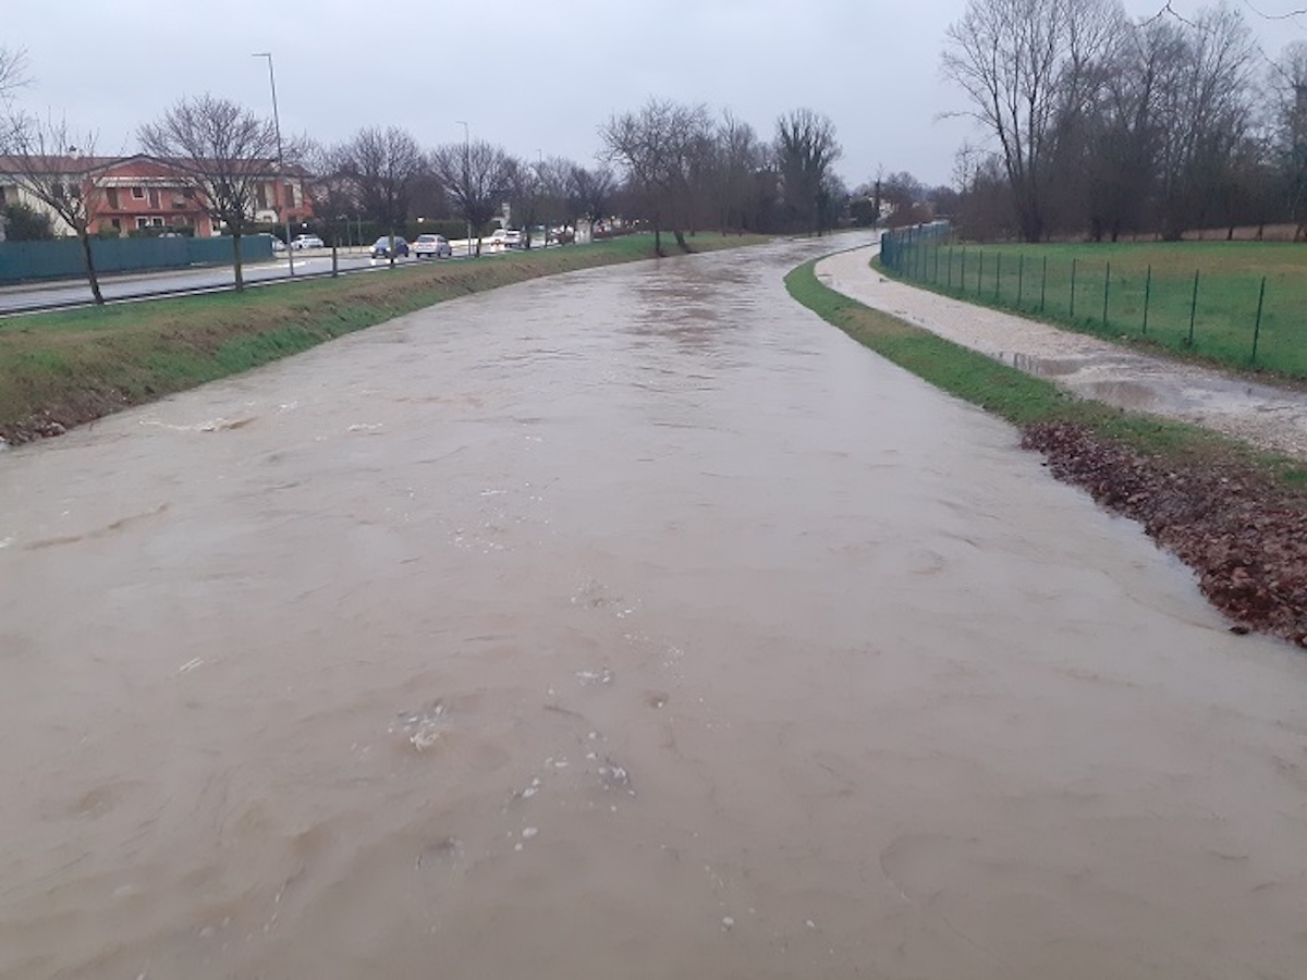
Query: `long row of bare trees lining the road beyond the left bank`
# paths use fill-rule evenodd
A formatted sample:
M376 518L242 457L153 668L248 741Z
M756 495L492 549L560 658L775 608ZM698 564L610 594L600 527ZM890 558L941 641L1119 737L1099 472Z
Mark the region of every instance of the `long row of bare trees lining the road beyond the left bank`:
M7 179L56 214L82 244L88 278L102 302L90 239L101 206L90 175L71 179L68 153L95 158L97 135L67 120L21 108L21 52L0 48L0 155ZM765 140L729 111L650 99L599 127L603 149L591 166L563 158L514 155L486 140L423 148L400 127L363 127L348 140L282 141L276 122L212 94L182 98L140 127L140 149L166 161L195 191L216 225L233 237L235 285L239 239L255 229L256 203L272 174L301 180L331 240L345 216L395 237L413 218L464 223L477 239L508 208L532 244L532 229L621 217L687 250L698 229L821 233L835 225L844 189L833 165L840 146L831 122L808 108L779 116ZM30 217L30 216L27 216ZM288 243L289 244L289 243ZM392 255L393 255L393 250ZM393 259L392 259L393 261Z

